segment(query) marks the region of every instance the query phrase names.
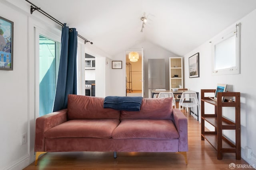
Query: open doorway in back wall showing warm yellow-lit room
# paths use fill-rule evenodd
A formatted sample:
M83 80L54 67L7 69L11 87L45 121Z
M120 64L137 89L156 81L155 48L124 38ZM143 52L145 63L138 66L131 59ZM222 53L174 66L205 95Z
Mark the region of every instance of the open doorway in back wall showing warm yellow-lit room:
M129 53L137 52L138 61L130 61ZM126 96L144 96L143 95L143 52L126 51Z

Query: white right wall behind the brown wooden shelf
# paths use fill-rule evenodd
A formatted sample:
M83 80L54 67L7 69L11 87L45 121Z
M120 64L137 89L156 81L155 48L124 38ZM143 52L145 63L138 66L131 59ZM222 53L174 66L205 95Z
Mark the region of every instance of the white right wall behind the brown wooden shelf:
M250 164L256 164L254 159L246 159L244 147L252 149L254 158L256 155L256 90L254 68L256 64L256 10L237 21L241 23L241 74L211 75L211 44L209 41L202 44L184 56L185 86L191 90L200 92L200 89L215 89L217 83L228 84L228 90L240 92L241 100L241 156ZM234 25L231 25L234 26ZM228 29L228 28L227 28ZM225 30L224 30L225 31ZM216 35L218 36L218 35ZM213 37L214 38L214 37ZM195 53L200 53L200 77L189 78L188 58ZM234 133L226 133L232 136ZM231 137L232 138L232 137ZM234 137L233 137L234 138Z

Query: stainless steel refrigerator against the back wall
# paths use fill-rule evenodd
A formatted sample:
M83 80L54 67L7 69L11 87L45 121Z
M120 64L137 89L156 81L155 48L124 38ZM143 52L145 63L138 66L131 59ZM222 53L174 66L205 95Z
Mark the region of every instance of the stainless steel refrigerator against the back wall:
M164 59L148 59L148 96L152 90L165 89L165 63Z

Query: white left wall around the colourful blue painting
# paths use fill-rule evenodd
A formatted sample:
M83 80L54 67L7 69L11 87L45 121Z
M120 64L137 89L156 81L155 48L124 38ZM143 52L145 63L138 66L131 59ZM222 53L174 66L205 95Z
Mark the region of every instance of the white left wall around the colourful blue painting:
M0 169L8 169L29 162L28 143L20 145L21 135L29 135L28 25L26 15L10 8L8 3L0 2L0 6L0 16L14 22L13 71L0 70Z

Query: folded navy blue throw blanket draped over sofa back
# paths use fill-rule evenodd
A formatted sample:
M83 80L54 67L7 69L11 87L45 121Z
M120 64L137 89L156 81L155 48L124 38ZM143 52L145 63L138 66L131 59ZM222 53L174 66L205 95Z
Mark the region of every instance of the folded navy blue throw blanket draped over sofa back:
M140 111L142 97L107 96L104 99L104 108L116 110Z

